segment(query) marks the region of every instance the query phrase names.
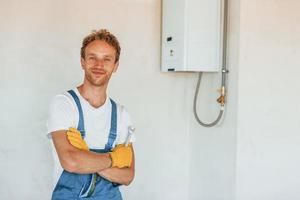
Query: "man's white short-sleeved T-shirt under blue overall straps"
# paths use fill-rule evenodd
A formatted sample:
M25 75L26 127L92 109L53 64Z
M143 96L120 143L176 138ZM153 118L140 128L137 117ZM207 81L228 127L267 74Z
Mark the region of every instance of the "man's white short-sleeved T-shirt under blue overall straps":
M85 141L90 149L104 149L108 141L112 104L107 97L105 103L99 107L92 107L78 92L77 88L73 89L77 94L83 110ZM50 104L49 117L47 121L47 136L51 139L51 133L58 130L68 130L77 128L79 121L79 112L73 97L65 92L56 95ZM113 147L116 144L124 143L128 133L128 127L132 126L130 116L124 106L117 104L117 137ZM134 142L134 135L131 136L130 142ZM52 143L52 153L54 158L54 184L57 183L63 169L60 165L55 147Z

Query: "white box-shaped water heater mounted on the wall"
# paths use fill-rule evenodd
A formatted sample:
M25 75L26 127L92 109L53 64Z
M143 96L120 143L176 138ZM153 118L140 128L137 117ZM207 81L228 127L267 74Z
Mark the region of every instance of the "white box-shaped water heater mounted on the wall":
M223 0L163 0L162 71L222 67Z

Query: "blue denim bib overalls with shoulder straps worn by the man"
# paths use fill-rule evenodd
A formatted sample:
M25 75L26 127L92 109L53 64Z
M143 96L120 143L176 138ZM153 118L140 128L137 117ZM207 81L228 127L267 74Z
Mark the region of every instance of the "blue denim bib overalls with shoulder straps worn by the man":
M73 97L79 112L79 122L77 129L81 136L85 137L83 111L78 96L73 90L68 91ZM112 145L117 136L117 107L116 103L110 99L112 104L111 127L107 144L104 149L90 149L98 153L111 151ZM119 185L114 184L98 174L76 174L64 170L54 188L52 200L122 200Z

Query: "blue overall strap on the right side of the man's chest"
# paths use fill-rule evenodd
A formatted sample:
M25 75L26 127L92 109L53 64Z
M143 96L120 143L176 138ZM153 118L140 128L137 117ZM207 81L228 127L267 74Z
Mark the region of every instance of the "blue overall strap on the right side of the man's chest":
M108 136L107 144L105 145L105 150L110 151L117 137L117 105L110 99L111 102L111 122L110 131Z

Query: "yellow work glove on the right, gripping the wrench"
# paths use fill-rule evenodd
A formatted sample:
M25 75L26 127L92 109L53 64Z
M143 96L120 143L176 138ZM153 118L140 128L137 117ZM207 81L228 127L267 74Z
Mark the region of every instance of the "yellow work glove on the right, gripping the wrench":
M131 145L126 147L124 144L119 144L109 154L111 157L112 167L130 167L132 162Z

